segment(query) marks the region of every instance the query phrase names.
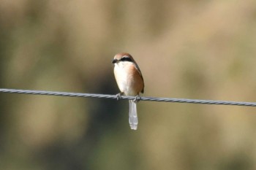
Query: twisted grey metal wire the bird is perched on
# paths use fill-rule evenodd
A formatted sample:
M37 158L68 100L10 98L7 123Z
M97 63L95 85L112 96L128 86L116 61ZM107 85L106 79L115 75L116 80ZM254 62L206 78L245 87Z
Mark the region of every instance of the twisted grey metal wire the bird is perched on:
M45 95L45 96L69 96L69 97L88 97L88 98L113 98L113 99L128 99L134 100L135 96L121 96L108 95L108 94L94 94L94 93L67 93L58 91L42 91L42 90L17 90L0 88L0 93L22 93L22 94L34 94L34 95ZM175 103L188 103L188 104L219 104L219 105L233 105L233 106L245 106L245 107L256 107L255 102L244 102L244 101L213 101L213 100L197 100L188 98L156 98L156 97L140 97L140 101L165 101Z

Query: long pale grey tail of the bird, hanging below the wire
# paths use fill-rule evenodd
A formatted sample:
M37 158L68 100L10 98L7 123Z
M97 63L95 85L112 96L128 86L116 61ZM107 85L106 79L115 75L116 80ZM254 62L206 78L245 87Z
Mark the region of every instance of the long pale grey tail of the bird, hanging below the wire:
M132 130L137 130L138 116L137 116L137 103L136 101L129 100L129 126Z

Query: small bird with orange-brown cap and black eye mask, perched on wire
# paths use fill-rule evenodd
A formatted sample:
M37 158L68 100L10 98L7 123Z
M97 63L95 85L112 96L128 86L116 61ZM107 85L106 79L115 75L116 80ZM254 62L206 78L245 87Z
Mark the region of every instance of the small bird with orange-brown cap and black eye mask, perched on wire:
M129 125L132 130L138 128L137 103L140 93L144 93L144 80L140 68L132 55L129 53L118 53L114 56L114 75L121 95L135 96L134 100L129 100Z

